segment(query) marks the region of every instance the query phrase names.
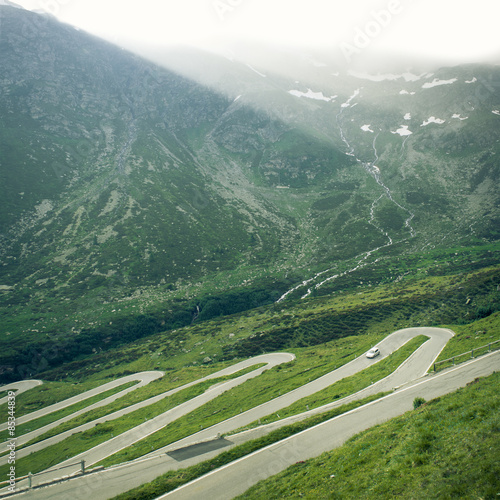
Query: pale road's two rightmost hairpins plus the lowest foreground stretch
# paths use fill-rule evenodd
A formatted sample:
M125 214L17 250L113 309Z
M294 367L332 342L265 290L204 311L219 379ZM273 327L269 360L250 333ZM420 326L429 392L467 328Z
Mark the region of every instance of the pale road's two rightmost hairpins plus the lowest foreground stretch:
M355 395L348 396L342 400L337 400L334 403L329 403L328 405L305 412L301 415L295 415L288 419L273 422L268 426L261 426L251 431L229 436L225 439L217 439L217 436L220 434L229 433L242 426L248 425L251 422L255 422L259 418L277 412L295 401L298 401L310 394L314 394L337 382L338 380L341 380L342 378L353 375L370 365L377 363L418 335L426 335L429 337L429 340L422 344L391 375L375 384L370 385ZM248 457L229 464L226 467L218 469L217 471L214 471L213 473L170 493L172 498L189 498L190 500L195 498L232 498L239 493L243 493L249 486L255 484L258 480L275 474L291 463L316 456L323 451L338 446L346 439L345 436L359 432L363 426L365 426L363 428L371 427L381 421L404 413L411 408L415 394L426 398L435 397L434 394L439 395L453 391L468 381L473 380L476 376L487 375L499 368L499 353L493 353L470 363L460 365L453 370L447 370L437 375L426 375L427 371L432 366L432 363L452 336L452 331L440 328L409 328L399 330L389 335L378 344L381 355L375 359L368 359L366 356L362 355L337 370L313 380L302 387L243 412L235 417L227 419L210 428L197 432L165 448L156 450L150 455L147 455L139 460L109 468L98 473L75 477L70 481L57 483L50 487L31 490L23 493L23 496L26 498L41 499L66 499L69 497L79 499L89 498L89 495L92 496L93 500L111 498L120 492L127 491L128 489L143 484L144 482L151 481L158 475L168 470L185 468L194 463L206 460L211 456L218 454L221 448L228 449L230 446L235 446L249 439L254 439L255 437L264 435L277 427L287 425L291 421L306 418L314 413L327 411L330 408L340 406L354 399L364 398L369 394L397 389L385 398L370 403L369 405L365 405L357 410L353 410L348 414L336 417L335 419L329 420L320 426L313 427L307 431L292 436L287 440L280 441L271 447L267 447L259 452L249 455ZM256 363L267 363L266 366L259 368L258 370L254 370L251 373L245 374L228 382L212 386L204 394L193 398L144 424L139 425L128 432L116 436L115 438L88 450L77 457L73 457L68 461L62 462L60 466L75 464L79 460L85 460L87 467L89 467L92 464L99 462L106 456L130 446L133 442L144 439L147 435L165 427L169 422L172 422L180 416L191 412L193 409L205 404L214 397L217 397L222 392L235 387L249 378L258 376L262 373L262 371L269 369L272 366L286 363L293 359L293 355L286 353L258 356L242 363L238 363L233 367L226 368L225 370L212 374L209 377L205 377L202 380L236 373L237 371L255 365ZM478 375L478 373L480 375ZM187 385L193 385L199 382L200 380ZM182 388L186 386L183 386ZM177 390L181 390L182 388L178 388ZM165 393L160 396L165 397L167 394L168 393ZM126 410L127 409L123 411ZM338 426L343 426L343 430L339 431ZM325 432L325 430L327 430L327 432ZM22 450L19 451L21 452ZM277 459L278 456L281 457L279 460ZM285 458L283 458L283 456ZM76 474L78 471L79 466L75 466L74 468L70 467L64 471L64 474ZM61 475L60 471L47 472L44 473L43 476L36 476L33 484L36 485L38 483L45 483L55 479L56 477L61 477ZM238 479L236 479L237 477ZM40 479L37 482L35 479L38 478ZM244 481L242 478L244 478ZM228 487L228 482L231 484L231 487ZM25 483L26 481L21 481L19 487L25 487Z

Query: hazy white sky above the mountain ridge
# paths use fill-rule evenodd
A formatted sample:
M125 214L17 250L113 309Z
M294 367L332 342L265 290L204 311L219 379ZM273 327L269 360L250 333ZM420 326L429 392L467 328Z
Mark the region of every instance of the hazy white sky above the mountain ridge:
M500 61L499 0L17 0L131 47L250 40L452 63Z

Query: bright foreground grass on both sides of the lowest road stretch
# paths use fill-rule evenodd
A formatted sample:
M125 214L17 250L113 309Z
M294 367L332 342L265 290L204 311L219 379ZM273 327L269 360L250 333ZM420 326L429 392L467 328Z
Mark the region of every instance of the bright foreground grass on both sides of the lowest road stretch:
M352 437L341 448L297 463L261 481L240 498L262 498L263 495L270 498L372 498L373 495L442 498L451 492L460 498L494 498L499 486L494 455L498 453L497 383L498 374L494 374L456 393L426 402L413 412ZM457 408L465 411L457 412ZM449 425L439 425L439 421ZM295 432L305 428L295 427ZM274 434L278 433L281 439L287 436L280 431ZM250 446L222 453L214 460L167 473L115 498L157 498L210 472L214 466L225 465L272 443L272 434ZM469 461L471 456L473 466Z

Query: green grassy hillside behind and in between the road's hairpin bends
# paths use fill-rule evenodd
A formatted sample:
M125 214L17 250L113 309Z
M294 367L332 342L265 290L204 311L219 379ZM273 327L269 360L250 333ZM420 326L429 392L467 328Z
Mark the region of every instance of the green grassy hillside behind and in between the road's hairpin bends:
M443 258L442 262L446 260ZM122 347L95 353L86 359L41 373L44 385L17 397L17 414L21 416L40 406L130 373L152 369L166 372L162 379L120 398L110 406L59 425L38 441L213 373L223 366L234 364L235 359L276 350L296 354L297 360L285 368L278 366L227 391L211 403L169 425L166 431L156 432L109 457L104 464L111 465L140 457L180 439L198 430L200 422L203 422L204 427L212 425L318 378L362 354L398 328L421 323L452 328L456 336L449 341L439 359L456 356L471 349L476 349L477 354L484 353L484 349L477 349L500 340L498 266L475 271L469 268L467 273L449 275L438 275L438 269L427 269L426 277L406 276L396 283L366 287L363 292L353 286L350 292L263 306L228 317L202 321L172 332L157 333ZM304 411L306 407L315 408L326 404L370 385L393 371L421 341L415 339L407 348L405 346L406 350L401 349L401 352L395 353L394 359L391 356L387 363L374 365L367 373L345 379L321 394L284 409L278 419ZM99 428L76 433L57 445L18 460L18 469L35 472L55 465L60 461L61 453L71 457L89 449L144 422L144 418L151 418L191 399L214 382L217 381L199 384L166 398L153 407L136 411ZM334 414L351 408L352 405L341 407ZM228 463L259 447L331 418L334 414L328 412L305 420L300 425L280 429L265 439L221 455L215 462L200 464L187 472L169 473L165 480L159 479L158 484L163 485L161 488L165 484L170 485L167 488L178 486L203 474L207 467L210 470L213 466ZM270 415L263 423L276 419L276 415ZM29 432L40 424L37 421L27 423L19 427L19 432ZM145 490L140 491L150 491L152 488L156 495L165 491L157 486L144 488Z

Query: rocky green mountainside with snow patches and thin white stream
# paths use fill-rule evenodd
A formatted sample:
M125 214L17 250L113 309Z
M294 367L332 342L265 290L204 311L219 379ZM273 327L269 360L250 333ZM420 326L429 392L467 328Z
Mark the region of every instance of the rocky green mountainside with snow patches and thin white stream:
M155 311L158 330L181 302L179 324L203 317L207 294L259 290L256 306L498 240L498 67L191 52L165 69L48 16L0 19L4 371L26 339L108 338L116 315Z

